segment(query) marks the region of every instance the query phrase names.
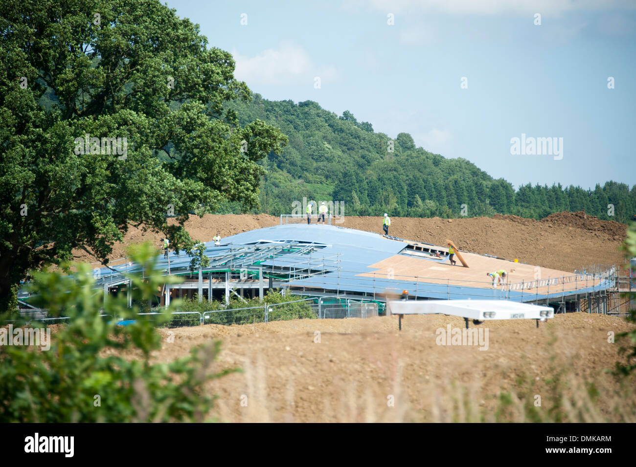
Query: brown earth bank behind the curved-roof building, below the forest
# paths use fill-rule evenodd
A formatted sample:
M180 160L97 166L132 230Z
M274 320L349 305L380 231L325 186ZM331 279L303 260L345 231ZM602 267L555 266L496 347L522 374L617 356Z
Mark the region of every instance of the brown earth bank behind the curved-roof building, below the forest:
M191 217L186 229L192 238L211 241L222 237L271 227L279 218L267 214L207 214ZM381 217L344 217L340 227L382 233ZM415 219L394 217L389 234L407 240L444 245L453 240L460 250L489 254L536 266L574 271L591 264L621 264L618 248L625 238L626 226L618 222L599 220L583 212L560 212L542 220L523 219L513 215L471 217L467 219ZM132 227L122 243L114 245L111 259L125 256L126 245L152 241L160 246L162 234ZM97 261L83 252L75 252L78 261Z

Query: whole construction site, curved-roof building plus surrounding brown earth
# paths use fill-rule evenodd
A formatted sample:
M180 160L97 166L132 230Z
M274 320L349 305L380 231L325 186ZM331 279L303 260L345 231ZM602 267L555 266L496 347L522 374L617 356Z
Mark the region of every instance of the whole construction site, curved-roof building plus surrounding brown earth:
M629 302L621 294L635 288L621 263L623 224L582 213L538 221L394 219L390 236L377 233L381 218L331 224L266 215L191 219L186 228L194 238L223 238L219 245L205 243L210 266L200 271L191 271L183 252L164 258L158 249L162 273L183 282L157 290L156 309L179 298L240 306L239 297L258 299L280 288L288 301L310 304L318 319L278 320L276 306L190 312L193 319L182 327L158 329L164 344L152 362L172 362L221 340L215 368L243 370L209 383L207 390L219 396L214 416L223 421L553 421L553 412L540 410L532 420L523 415L536 394L547 401L546 410L557 404L570 421L636 421L626 397L633 386L607 377L621 358L620 345L608 336L633 327L624 319ZM139 266L118 260L119 254L147 240L160 245L161 238L130 229L109 268L93 264L102 293L127 294L122 273ZM459 257L450 264L446 240L467 267ZM600 266L604 260L609 264ZM501 269L508 279L493 287L486 273ZM460 316L405 315L399 323L387 316L385 304L404 290L408 302L547 304L555 314L537 327L527 319L474 326L490 333L488 351L481 352L436 342L441 329L464 327ZM24 313L41 313L27 303L23 295ZM188 314L182 310L177 313ZM208 319L222 313L224 320ZM591 400L589 384L604 396ZM511 401L505 407L502 395ZM557 395L592 409L582 416L574 405L552 400ZM387 405L387 397L395 405Z

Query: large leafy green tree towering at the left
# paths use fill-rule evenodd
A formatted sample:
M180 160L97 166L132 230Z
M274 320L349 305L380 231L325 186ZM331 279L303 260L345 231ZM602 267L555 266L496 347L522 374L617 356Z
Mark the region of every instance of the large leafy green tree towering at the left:
M0 30L0 309L73 248L106 263L130 224L188 250L189 213L258 203L286 137L223 109L251 91L198 25L158 0L6 0Z

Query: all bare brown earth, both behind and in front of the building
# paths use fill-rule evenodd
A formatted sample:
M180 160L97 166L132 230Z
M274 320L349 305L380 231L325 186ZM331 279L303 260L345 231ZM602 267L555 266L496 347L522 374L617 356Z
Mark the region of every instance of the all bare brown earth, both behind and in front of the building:
M277 217L263 214L206 215L186 227L193 238L208 241L216 233L277 224ZM381 233L382 219L346 217L337 225ZM625 232L623 224L584 213L543 220L393 218L390 229L409 240L443 244L448 238L462 250L564 271L620 264ZM131 229L112 257L123 257L125 244L159 245L160 238ZM630 328L623 318L572 313L539 328L534 321L492 321L478 327L484 350L439 345L439 329L448 325L464 328L464 321L407 316L401 332L395 316L162 329L163 348L152 358L169 362L221 339L214 369L242 369L206 388L219 396L211 415L221 421L529 421L528 405L543 421L553 421L558 410L569 421L636 421L636 380L619 381L606 372L621 358L619 344L608 340ZM593 400L594 393L602 397ZM502 400L509 403L502 407Z

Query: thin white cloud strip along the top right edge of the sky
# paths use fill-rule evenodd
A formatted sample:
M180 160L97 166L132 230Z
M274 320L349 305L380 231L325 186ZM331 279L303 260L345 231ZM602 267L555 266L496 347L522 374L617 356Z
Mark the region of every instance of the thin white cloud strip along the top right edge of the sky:
M449 13L452 15L560 15L577 10L633 9L633 0L343 0L343 7L368 6L387 13ZM396 18L397 21L397 18Z

